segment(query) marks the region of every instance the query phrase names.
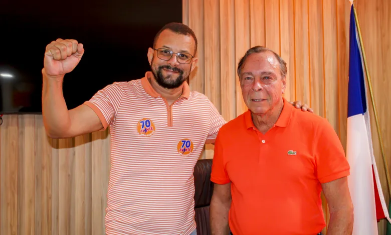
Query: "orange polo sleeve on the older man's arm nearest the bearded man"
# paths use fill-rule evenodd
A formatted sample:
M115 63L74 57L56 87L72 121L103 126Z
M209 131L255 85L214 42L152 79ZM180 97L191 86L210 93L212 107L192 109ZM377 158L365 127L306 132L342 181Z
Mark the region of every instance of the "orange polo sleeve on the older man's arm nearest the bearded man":
M226 184L231 182L224 162L224 141L222 134L218 134L215 142L215 154L212 162L211 181L218 184Z

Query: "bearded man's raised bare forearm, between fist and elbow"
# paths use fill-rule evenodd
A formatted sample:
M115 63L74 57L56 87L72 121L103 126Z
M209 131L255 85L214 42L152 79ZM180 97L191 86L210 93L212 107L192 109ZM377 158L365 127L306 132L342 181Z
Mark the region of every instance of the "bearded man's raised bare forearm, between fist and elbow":
M42 70L42 114L47 133L51 137L61 137L70 128L71 121L63 95L63 78L48 77Z

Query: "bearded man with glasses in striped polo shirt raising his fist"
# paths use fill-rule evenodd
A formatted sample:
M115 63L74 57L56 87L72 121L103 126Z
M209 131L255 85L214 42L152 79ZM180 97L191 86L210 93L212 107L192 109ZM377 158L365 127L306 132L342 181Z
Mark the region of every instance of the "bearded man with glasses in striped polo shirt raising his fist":
M148 49L150 72L107 85L68 110L62 81L79 63L83 45L57 39L46 47L42 104L48 135L67 138L110 126L107 234L197 234L193 168L226 121L185 81L197 64L196 51L189 27L167 24Z

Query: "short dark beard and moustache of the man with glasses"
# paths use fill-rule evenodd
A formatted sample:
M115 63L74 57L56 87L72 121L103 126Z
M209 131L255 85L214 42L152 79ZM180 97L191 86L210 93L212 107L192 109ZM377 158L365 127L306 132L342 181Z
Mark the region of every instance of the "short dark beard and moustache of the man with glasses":
M172 75L163 76L162 70L163 69L169 69L174 72L178 72L178 77L176 79L171 79ZM157 67L157 69L153 69L151 65L151 71L153 72L153 75L156 78L157 83L167 89L173 89L179 87L187 78L187 76L183 76L184 71L177 67L171 67L170 65L160 65Z

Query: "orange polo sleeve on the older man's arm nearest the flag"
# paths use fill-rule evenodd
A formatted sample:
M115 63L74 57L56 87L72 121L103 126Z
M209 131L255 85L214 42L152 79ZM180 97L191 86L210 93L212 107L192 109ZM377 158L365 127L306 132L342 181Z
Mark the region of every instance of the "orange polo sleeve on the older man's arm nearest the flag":
M330 182L350 174L341 141L327 120L321 122L316 130L314 154L319 182Z

